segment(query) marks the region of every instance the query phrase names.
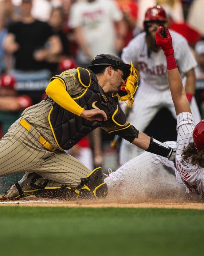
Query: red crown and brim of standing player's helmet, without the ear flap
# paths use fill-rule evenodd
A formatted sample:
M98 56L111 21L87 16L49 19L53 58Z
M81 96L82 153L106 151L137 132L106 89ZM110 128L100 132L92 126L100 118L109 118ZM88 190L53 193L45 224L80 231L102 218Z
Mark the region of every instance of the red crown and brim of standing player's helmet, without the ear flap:
M144 22L151 20L167 21L166 13L160 5L155 5L146 10Z

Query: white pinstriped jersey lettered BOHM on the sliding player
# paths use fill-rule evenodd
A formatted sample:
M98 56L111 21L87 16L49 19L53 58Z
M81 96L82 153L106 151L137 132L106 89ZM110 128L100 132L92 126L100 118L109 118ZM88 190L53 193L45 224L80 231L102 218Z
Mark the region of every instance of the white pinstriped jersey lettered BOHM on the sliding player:
M193 166L191 163L181 163L184 147L193 141L192 133L195 121L191 113L183 112L177 116L177 151L176 151L176 178L178 183L183 182L186 191L204 196L204 169Z

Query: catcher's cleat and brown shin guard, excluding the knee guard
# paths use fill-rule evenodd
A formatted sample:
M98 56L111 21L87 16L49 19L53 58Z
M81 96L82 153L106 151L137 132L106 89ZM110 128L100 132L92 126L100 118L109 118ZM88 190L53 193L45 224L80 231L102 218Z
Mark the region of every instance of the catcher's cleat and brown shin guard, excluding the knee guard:
M43 178L37 173L26 173L19 182L9 188L3 199L19 199L31 195L55 199L76 199L79 191Z

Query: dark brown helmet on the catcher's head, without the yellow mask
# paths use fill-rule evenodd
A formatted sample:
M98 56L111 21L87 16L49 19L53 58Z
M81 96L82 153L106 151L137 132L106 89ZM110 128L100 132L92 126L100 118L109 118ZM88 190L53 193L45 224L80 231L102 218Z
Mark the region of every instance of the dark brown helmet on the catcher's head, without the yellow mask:
M91 61L91 65L86 67L95 72L100 66L113 66L123 71L125 80L130 75L130 64L125 64L121 58L113 54L100 54L94 57Z

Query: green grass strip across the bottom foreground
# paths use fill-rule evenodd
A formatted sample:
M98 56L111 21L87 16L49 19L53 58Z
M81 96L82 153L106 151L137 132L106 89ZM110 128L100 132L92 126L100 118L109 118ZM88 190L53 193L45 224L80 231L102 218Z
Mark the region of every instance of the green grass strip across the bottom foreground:
M204 211L0 207L1 256L203 255Z

